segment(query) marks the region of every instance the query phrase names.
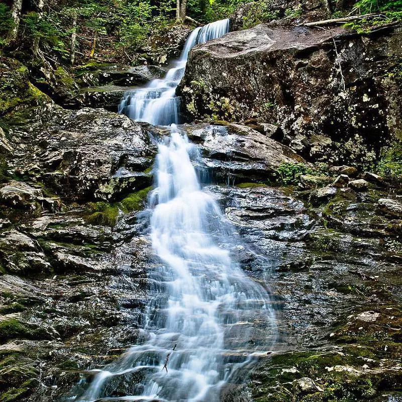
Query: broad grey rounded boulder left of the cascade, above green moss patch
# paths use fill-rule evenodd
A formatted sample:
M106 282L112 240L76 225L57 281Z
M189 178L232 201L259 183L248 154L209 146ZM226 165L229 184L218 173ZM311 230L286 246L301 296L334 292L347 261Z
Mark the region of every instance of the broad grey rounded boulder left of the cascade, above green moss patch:
M58 119L16 132L10 169L70 200L113 200L150 185L156 147L141 126L104 109L59 110Z

